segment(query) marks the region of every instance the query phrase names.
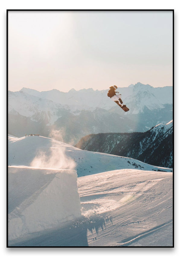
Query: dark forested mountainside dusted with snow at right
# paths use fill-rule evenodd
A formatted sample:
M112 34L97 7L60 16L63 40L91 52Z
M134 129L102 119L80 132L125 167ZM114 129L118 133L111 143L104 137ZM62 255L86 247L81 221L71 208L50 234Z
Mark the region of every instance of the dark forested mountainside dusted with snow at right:
M173 167L173 120L167 124L158 124L144 133L90 134L83 137L75 147Z

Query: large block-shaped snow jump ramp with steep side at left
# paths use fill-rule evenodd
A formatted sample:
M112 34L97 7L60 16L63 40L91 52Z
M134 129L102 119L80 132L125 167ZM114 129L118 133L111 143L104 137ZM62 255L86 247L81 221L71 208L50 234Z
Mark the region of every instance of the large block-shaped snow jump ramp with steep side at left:
M76 170L8 166L8 240L81 216Z

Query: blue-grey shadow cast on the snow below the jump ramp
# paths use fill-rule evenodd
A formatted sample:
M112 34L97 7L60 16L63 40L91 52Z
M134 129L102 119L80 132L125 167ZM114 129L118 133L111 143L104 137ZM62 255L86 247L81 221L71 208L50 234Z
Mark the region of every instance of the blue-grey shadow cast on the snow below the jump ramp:
M23 241L22 239L9 241L8 247L80 247L89 246L87 242L87 231L92 234L106 227L106 223L112 221L112 217L82 216L81 219L68 223L59 229L46 229L43 232L33 233ZM97 240L94 237L93 240Z

